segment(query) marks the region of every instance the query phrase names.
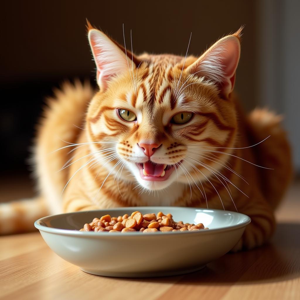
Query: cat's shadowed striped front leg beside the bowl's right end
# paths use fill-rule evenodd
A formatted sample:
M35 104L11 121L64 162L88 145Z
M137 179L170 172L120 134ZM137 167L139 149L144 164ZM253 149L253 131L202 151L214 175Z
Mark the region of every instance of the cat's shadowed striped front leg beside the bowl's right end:
M250 250L267 242L275 230L274 213L268 203L260 195L253 195L245 205L240 205L238 211L247 214L251 223L247 225L244 234L232 248L232 252Z

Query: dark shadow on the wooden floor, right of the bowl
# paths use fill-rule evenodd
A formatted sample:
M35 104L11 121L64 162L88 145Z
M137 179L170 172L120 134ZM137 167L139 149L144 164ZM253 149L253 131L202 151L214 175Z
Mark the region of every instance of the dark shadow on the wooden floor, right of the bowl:
M268 245L239 253L228 253L206 268L184 276L125 279L187 285L265 283L300 276L300 224L280 223Z

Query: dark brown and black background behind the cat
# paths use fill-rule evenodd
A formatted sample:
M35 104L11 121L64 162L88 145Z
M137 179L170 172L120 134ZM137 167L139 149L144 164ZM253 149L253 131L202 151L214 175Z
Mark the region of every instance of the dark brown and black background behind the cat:
M89 78L95 66L86 37L86 18L133 50L200 55L223 35L243 30L235 90L246 110L261 104L261 30L266 7L280 1L5 1L1 3L1 173L28 173L26 158L44 99L64 79ZM270 11L267 9L267 13ZM271 12L272 13L272 12ZM262 33L263 32L263 33ZM273 52L273 50L271 51ZM267 57L270 53L267 53ZM280 53L279 53L280 55ZM0 174L1 175L1 174Z

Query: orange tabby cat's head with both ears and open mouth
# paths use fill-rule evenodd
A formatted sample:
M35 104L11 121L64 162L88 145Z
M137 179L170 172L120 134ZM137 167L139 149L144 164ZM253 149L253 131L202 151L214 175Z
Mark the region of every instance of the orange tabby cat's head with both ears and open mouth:
M161 190L221 168L219 147L232 147L236 135L231 92L240 34L185 58L135 56L89 28L100 91L88 107L87 134L93 155L112 175L124 168L131 175L122 179Z

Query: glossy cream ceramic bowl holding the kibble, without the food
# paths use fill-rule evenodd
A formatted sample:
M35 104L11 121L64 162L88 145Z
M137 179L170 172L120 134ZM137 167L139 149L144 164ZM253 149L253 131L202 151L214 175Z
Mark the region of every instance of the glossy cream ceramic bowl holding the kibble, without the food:
M108 233L78 231L94 217L171 213L175 221L203 223L193 232ZM126 207L80 211L35 222L48 246L61 258L90 274L153 277L184 274L203 268L238 242L250 217L232 211L186 207Z

